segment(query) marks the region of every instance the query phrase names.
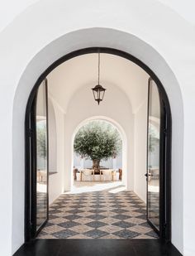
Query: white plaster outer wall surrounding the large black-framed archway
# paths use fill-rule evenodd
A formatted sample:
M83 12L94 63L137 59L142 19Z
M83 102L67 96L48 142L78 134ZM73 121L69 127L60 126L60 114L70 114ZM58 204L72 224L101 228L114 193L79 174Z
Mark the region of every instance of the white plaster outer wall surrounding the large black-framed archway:
M193 256L194 27L176 12L152 0L112 1L112 8L110 2L105 1L76 4L77 8L74 1L69 4L59 0L37 2L0 34L3 176L7 171L7 179L0 181L5 191L0 195L1 205L6 209L0 218L1 254L10 256L24 241L24 136L21 131L32 86L52 62L69 51L110 46L131 53L154 70L169 96L173 116L172 242L184 255ZM75 33L69 33L71 31Z

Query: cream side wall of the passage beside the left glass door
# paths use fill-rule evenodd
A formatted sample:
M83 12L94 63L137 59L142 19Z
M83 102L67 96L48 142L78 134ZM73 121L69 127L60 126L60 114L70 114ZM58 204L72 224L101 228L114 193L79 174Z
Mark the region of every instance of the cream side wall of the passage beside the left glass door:
M48 84L50 85L50 80L48 81ZM49 176L49 204L51 204L64 191L64 112L59 108L59 105L54 100L50 100L52 101L55 109L57 173L50 174Z

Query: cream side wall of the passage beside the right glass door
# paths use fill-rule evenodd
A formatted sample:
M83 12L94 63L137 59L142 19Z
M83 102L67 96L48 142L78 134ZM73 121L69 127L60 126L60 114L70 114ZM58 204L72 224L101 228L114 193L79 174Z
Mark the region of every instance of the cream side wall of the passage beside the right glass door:
M144 89L144 88L143 88ZM140 199L146 202L146 149L147 149L147 85L145 85L146 99L135 114L135 181L134 191Z

